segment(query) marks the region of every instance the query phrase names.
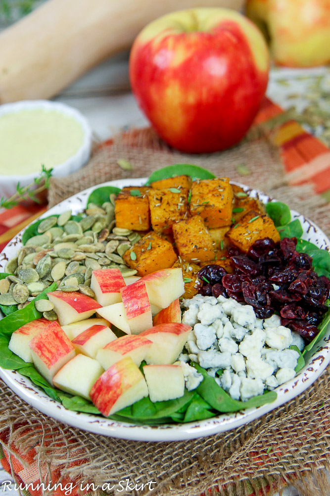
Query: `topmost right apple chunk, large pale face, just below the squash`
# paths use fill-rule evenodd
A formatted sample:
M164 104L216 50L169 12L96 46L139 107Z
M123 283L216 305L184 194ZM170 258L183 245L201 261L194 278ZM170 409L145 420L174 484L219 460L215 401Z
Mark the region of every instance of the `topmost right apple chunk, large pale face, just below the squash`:
M152 274L142 277L150 304L161 309L169 305L185 292L185 284L181 267L157 270Z

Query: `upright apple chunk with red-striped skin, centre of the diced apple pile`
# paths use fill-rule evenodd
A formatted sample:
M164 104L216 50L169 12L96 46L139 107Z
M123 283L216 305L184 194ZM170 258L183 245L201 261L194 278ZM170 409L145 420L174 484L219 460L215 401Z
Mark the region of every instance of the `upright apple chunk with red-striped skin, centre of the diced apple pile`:
M131 334L140 334L140 332L151 327L151 307L142 279L125 286L125 288L121 288L120 293Z

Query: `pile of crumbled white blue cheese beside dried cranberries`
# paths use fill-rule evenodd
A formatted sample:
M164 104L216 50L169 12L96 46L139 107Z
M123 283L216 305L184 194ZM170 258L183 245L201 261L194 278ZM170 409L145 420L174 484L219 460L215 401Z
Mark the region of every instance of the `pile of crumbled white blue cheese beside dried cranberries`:
M182 322L192 327L185 345L189 359L215 377L232 398L247 401L295 376L299 354L289 347L295 345L301 351L304 341L281 325L278 315L259 319L250 305L223 296L196 295L184 300L183 307ZM201 374L185 363L184 356L178 363L183 367L186 387L193 389ZM219 370L222 373L218 377Z

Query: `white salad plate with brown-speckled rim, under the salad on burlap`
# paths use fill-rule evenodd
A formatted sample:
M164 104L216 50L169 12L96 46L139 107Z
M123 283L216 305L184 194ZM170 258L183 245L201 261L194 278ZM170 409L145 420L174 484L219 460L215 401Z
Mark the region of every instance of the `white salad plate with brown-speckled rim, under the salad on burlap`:
M58 205L49 209L41 218L52 214L60 214L65 210L72 210L73 214L78 214L86 207L90 193L99 186L141 186L145 184L146 178L124 179L103 183L93 186L84 191L71 196ZM269 196L247 186L239 185L251 196L258 196L263 203L271 201ZM301 222L304 234L303 239L314 243L319 248L329 250L330 241L327 236L313 222L306 219L299 213L291 210L293 219L298 218ZM35 222L35 221L34 221ZM0 272L5 271L8 259L15 256L18 249L22 247L21 231L0 253ZM95 434L103 434L122 439L132 439L141 441L179 441L193 439L211 434L235 429L243 424L251 422L262 415L283 405L295 396L307 389L326 369L330 363L330 326L324 338L318 343L317 350L306 366L297 375L275 389L277 399L272 403L267 403L257 408L249 408L243 411L229 414L219 414L211 419L192 422L189 424L171 425L134 425L126 422L109 420L98 415L91 415L67 410L61 403L51 399L47 394L34 385L28 377L21 375L17 371L10 371L0 368L0 377L4 382L23 400L35 407L40 412L52 417L64 424L69 424L78 429L89 431Z

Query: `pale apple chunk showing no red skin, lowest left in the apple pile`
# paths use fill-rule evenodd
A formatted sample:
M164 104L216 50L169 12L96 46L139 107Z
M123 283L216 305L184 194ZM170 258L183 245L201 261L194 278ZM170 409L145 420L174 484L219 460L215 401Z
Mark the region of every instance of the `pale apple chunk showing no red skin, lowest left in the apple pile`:
M92 386L103 372L103 367L96 360L79 354L57 372L53 384L62 391L89 400Z

